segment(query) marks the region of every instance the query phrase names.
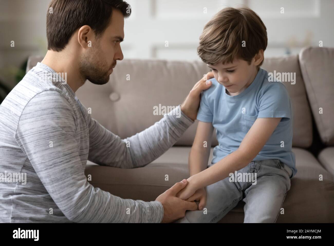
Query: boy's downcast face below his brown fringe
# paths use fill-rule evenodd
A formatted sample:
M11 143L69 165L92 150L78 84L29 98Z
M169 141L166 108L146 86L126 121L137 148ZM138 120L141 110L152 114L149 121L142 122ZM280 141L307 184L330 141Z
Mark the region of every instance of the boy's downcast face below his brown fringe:
M207 66L211 68L218 83L233 95L237 95L247 88L258 73L258 69L253 63L249 65L242 59L234 59L232 63L207 64Z

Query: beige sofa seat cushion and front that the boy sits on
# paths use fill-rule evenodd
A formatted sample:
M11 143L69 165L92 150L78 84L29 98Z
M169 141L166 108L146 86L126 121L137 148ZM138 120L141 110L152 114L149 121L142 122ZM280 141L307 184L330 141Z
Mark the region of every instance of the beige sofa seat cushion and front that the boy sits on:
M92 175L90 183L122 198L155 200L176 182L189 177L188 155L190 147L172 147L160 158L145 167L120 169L88 165L86 176ZM284 215L277 223L333 222L334 181L308 151L293 148L296 155L297 174L291 179L291 188L283 203ZM212 159L212 148L211 157ZM168 174L168 181L165 175ZM319 181L319 175L323 181ZM219 222L242 223L244 202L240 201Z

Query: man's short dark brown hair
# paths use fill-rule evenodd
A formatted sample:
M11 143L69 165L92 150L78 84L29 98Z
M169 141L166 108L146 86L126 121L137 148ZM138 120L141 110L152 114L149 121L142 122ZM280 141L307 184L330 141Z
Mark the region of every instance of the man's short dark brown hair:
M47 49L61 51L83 25L89 25L95 36L101 37L115 9L124 18L131 14L131 6L123 0L52 0L46 14Z

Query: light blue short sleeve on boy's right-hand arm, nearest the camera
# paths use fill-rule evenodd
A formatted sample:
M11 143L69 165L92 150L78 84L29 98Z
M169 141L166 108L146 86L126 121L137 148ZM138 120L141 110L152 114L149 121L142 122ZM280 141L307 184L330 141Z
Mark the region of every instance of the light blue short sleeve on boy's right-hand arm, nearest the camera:
M259 99L258 118L291 118L289 93L282 82L270 82Z

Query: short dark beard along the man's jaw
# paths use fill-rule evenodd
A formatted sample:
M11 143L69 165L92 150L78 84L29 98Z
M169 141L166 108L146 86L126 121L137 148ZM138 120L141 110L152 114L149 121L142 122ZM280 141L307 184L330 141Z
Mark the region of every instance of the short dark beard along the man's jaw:
M96 61L91 60L92 58L98 58ZM84 80L89 80L96 85L104 85L109 81L109 69L106 71L105 68L107 62L101 62L103 54L97 52L97 54L92 54L92 56L85 56L81 58L79 64L79 72L81 78Z

